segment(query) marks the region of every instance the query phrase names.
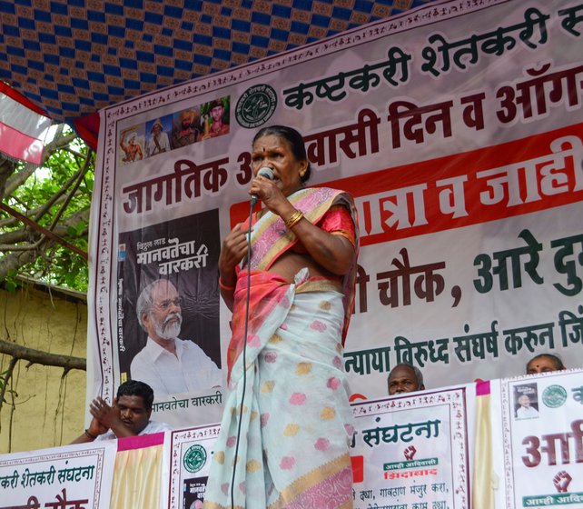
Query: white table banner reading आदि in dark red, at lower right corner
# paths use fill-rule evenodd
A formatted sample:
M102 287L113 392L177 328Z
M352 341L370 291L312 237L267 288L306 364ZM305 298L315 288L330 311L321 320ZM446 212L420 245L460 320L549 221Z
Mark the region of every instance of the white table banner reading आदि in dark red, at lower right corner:
M501 381L507 507L583 507L583 376Z

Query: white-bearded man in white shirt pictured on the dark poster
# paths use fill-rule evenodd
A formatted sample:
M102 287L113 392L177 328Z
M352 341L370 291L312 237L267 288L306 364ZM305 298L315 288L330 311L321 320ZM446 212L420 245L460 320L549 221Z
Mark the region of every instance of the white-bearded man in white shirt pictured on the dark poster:
M149 384L156 397L200 392L222 384L221 370L203 349L178 337L183 324L181 299L170 281L157 279L145 286L136 313L148 341L133 357L133 379Z

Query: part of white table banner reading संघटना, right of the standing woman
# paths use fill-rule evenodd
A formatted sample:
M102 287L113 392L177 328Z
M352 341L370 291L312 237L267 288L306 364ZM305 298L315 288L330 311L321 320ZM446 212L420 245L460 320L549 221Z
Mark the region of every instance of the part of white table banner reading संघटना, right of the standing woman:
M352 410L355 508L469 507L465 387L352 404Z

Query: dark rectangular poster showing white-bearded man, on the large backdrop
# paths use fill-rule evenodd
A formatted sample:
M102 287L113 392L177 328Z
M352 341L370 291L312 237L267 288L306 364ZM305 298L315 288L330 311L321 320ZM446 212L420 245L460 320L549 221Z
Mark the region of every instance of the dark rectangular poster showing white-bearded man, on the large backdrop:
M222 385L216 211L120 235L120 372L159 402Z

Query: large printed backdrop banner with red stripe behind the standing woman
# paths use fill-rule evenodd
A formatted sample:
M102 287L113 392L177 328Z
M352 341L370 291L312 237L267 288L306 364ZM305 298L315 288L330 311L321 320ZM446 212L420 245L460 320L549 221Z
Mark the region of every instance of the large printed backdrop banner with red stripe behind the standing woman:
M572 0L434 2L102 111L87 397L142 377L187 427L222 391L217 264L266 125L304 136L308 185L355 197L353 393L384 397L401 362L428 388L543 352L583 364L581 19ZM160 279L148 330L137 303Z

